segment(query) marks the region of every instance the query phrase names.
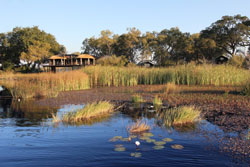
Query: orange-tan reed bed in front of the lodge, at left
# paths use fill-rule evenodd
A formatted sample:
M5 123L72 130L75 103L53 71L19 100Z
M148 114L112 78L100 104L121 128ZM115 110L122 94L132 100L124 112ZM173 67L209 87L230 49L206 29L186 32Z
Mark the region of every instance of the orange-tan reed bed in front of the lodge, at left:
M89 88L88 76L78 70L61 73L1 75L0 85L14 98L56 97L60 91Z

